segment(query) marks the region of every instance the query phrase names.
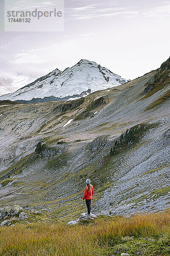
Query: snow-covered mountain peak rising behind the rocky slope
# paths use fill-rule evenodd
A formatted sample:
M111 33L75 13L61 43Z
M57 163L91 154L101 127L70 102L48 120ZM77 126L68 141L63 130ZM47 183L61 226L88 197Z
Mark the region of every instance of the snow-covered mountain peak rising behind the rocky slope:
M20 88L14 93L0 96L0 100L29 101L33 98L54 96L59 100L86 96L89 92L105 90L127 82L96 62L80 60L63 72L55 69L46 76Z

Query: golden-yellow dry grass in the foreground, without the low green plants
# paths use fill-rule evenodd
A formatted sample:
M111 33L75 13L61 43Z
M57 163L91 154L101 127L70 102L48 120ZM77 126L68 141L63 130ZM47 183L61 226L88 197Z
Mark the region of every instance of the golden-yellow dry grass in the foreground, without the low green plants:
M0 229L1 256L106 256L111 239L170 236L170 212L97 218L88 225L34 223Z

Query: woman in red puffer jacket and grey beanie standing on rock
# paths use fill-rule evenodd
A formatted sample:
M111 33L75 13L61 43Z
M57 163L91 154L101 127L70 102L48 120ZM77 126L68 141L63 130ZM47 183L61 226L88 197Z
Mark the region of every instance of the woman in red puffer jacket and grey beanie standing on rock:
M86 186L85 186L85 192L83 195L82 200L85 200L86 206L88 208L88 217L90 217L90 212L91 212L91 199L93 195L93 185L90 184L91 180L87 179L86 180Z

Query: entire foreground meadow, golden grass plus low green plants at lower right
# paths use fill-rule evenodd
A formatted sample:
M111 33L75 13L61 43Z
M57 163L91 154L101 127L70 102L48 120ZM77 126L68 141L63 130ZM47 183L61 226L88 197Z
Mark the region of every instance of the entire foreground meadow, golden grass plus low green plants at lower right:
M0 228L0 256L170 255L170 212Z

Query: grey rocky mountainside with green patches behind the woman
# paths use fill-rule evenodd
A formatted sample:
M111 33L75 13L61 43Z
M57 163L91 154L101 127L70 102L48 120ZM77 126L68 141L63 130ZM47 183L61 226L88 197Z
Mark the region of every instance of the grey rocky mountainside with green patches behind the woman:
M170 208L169 63L74 101L0 105L1 206L76 219L90 177L94 214Z

